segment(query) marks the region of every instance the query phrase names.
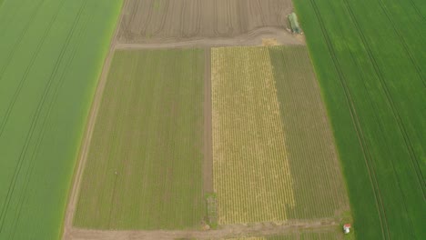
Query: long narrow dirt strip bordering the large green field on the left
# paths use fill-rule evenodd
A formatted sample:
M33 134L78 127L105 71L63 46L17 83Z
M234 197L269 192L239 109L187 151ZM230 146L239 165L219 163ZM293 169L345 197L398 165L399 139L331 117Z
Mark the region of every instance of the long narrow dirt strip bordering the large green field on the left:
M69 190L70 192L68 194L68 201L66 205L66 214L64 216L64 225L63 225L63 233L62 233L63 240L69 239L69 233L73 227L73 220L74 220L74 215L76 212L76 203L78 200L78 194L80 191L83 172L86 166L86 160L87 160L88 150L90 148L90 142L92 139L94 126L96 124L96 116L98 114L99 106L101 104L102 96L106 86L106 79L107 79L107 74L109 72L109 66L111 65L112 58L116 50L117 36L119 32L118 30L120 28L119 26L121 25L123 21L123 16L124 16L122 14L122 10L124 5L126 4L127 4L127 0L123 0L123 4L121 5L121 8L120 8L119 18L116 23L114 35L111 39L108 53L106 54L106 59L104 61L102 72L99 76L99 81L97 83L96 93L94 95L92 106L87 118L86 133L84 135L82 145L80 146L79 157L76 161L76 168L75 168L75 173L73 177L73 182L72 182L71 189Z

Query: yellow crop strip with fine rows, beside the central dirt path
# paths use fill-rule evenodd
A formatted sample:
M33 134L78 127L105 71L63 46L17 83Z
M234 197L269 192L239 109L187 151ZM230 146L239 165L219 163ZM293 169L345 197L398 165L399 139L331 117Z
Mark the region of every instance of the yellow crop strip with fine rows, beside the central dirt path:
M211 51L218 223L285 221L293 180L266 47Z

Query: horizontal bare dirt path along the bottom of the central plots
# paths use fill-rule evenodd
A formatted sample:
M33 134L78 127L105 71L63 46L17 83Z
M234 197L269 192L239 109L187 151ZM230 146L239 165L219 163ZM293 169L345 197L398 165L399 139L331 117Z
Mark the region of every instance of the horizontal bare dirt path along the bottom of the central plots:
M74 228L69 233L72 240L128 240L128 239L224 239L242 236L269 236L298 234L301 231L334 232L339 225L333 219L295 221L287 225L262 223L253 225L224 225L218 230L153 230L153 231L101 231Z

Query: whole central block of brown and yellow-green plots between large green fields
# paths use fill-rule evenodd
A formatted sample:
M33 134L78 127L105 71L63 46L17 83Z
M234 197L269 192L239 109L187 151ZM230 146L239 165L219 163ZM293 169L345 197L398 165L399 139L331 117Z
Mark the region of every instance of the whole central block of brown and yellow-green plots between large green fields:
M343 237L338 155L304 39L285 29L290 11L289 1L125 2L64 239ZM210 53L222 45L294 46ZM219 225L203 231L211 192Z

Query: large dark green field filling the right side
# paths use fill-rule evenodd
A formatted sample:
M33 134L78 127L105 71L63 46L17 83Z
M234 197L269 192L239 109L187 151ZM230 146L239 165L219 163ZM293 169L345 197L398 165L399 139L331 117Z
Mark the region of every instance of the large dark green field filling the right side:
M426 4L294 1L359 239L424 239Z

